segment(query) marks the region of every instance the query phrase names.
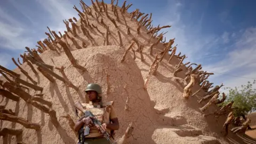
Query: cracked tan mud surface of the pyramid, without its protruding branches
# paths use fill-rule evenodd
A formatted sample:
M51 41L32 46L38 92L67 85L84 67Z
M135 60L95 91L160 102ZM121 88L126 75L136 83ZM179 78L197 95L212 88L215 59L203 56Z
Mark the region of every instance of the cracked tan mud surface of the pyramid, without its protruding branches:
M109 17L116 20L116 16L111 11L111 5L108 4L107 6ZM94 13L93 7L90 7L92 13ZM134 127L132 136L125 139L124 143L229 143L230 141L233 141L233 143L248 143L232 133L229 133L226 138L223 137L222 125L226 120L226 116L218 119L213 116L207 118L203 116L204 113L213 113L215 109L218 109L217 106L212 105L204 113L199 110L208 102L203 101L201 104L197 102L205 95L203 91L189 99L182 97L185 86L172 79L174 67L179 63L176 57L169 63L167 61L170 55L166 54L157 69L156 75L149 76L147 89L143 89L148 70L155 59L155 54L163 51L164 45L161 42L154 46L153 55L150 55L149 47L157 41L157 38L151 38L148 42L151 35L147 34L148 30L145 27L141 27L140 34L138 34L138 21L135 19L130 20L130 14L125 12L124 17L131 31L131 34L128 35L120 9L120 7L117 7L120 19L119 22L116 21L118 28L106 17L106 13L102 12L99 17L109 26L109 45L106 45L106 28L100 22L97 22L95 15L94 18L88 15L89 22L91 25L97 26L99 31L104 33L103 35L95 28L88 28L90 35L93 37L92 40L89 40L83 35L81 29L80 33L77 30L78 36L75 37L75 40L80 46L82 46L83 42L86 44L86 48L83 49L77 49L75 44L68 38L67 42L73 57L87 71L71 65L63 50L60 54L50 50L40 54L40 57L47 65L53 67L64 66L67 78L79 88L78 91L67 87L65 83L56 78L54 78L54 83L50 82L37 69L39 75L35 75L27 63L23 63L20 66L38 83L37 86L43 87L42 98L52 103L50 108L56 111L59 126L53 125L49 120L49 114L43 113L23 99L16 102L1 97L1 106L5 106L5 109L12 109L15 112L15 116L37 123L41 128L36 131L26 129L19 123L1 120L1 128L21 129L22 135L19 135L19 137L6 135L1 137L0 141L3 143L17 143L18 141L25 143L76 143L75 133L68 125L67 119L61 116L68 114L75 121L74 103L76 101L86 101L84 89L88 83L98 83L102 86L103 101L114 101L113 106L117 109L120 123L120 129L116 131L115 135L117 141L122 138L129 124L132 123ZM79 19L76 24L80 27L81 20ZM69 27L71 26L69 25ZM120 40L117 30L121 33L123 46L119 46ZM73 37L70 32L68 34ZM139 45L144 46L142 51L143 61L141 61L139 52L135 53L134 60L133 52L130 50L124 61L121 62L123 54L132 43L132 38L137 39ZM65 42L63 38L61 40ZM138 49L136 43L133 45L133 49ZM33 66L37 68L36 65ZM183 79L185 78L187 67L182 66L182 69L183 71L178 73L177 77ZM21 79L31 83L19 68L13 71L21 74ZM54 68L53 71L62 76L57 69ZM6 81L3 76L0 79ZM107 79L109 80L107 81ZM199 85L196 84L193 86L192 92L194 93L198 89ZM31 96L41 93L33 89L25 91ZM125 106L127 106L126 110Z

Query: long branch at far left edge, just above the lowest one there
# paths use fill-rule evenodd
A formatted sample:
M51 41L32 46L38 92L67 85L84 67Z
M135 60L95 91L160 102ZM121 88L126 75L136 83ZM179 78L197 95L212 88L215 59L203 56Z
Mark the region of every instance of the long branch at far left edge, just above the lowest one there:
M27 119L22 118L22 117L17 117L17 116L13 116L13 115L9 115L9 114L0 113L0 119L2 119L4 121L19 123L19 124L23 125L24 127L26 127L27 129L35 129L35 130L40 129L39 124L31 123L30 121L28 121Z

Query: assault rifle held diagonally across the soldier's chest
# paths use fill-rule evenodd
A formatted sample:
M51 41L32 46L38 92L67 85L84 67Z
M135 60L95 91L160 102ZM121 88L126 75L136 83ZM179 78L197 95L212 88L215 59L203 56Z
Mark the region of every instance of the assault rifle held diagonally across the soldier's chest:
M85 110L83 108L83 105L77 101L75 103L75 108L77 108L80 111L83 111L84 116L83 117L93 117L92 122L93 124L97 127L100 128L100 132L105 136L105 138L111 143L111 144L115 144L115 142L110 140L110 135L107 131L105 131L105 129L102 128L101 122L92 114L91 111L89 110ZM81 117L82 118L82 117ZM84 135L89 135L89 131L90 131L90 127L86 126L85 130L84 130Z

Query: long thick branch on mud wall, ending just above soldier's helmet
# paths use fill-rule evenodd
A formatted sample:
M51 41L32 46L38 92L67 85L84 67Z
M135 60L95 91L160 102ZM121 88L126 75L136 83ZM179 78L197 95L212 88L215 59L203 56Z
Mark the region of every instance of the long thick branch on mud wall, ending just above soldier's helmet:
M65 42L63 41L59 41L59 44L63 47L63 50L65 51L69 61L71 62L71 64L78 68L78 69L81 69L83 71L87 71L84 67L82 67L81 65L79 65L76 61L76 59L73 57L72 53L70 52L70 50L68 49L68 46Z

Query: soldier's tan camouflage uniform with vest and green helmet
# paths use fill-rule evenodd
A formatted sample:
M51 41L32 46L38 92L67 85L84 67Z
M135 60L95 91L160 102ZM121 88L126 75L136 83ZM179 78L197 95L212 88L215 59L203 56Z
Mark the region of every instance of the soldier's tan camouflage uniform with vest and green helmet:
M101 88L98 84L89 84L86 87L85 91L97 91L98 94L102 93ZM101 122L101 124L103 123L108 124L110 123L110 119L117 117L115 108L112 106L113 101L103 102L103 103L102 101L97 103L92 103L90 101L89 103L82 103L82 105L85 110L90 110L92 114ZM78 116L82 117L83 115L84 115L83 112L78 110ZM79 119L79 117L77 119ZM83 128L85 130L85 126ZM110 134L109 129L107 129L106 131ZM113 138L110 138L110 139L111 141L114 142ZM82 141L82 137L81 137L81 141ZM101 134L98 131L97 127L93 126L93 127L90 127L89 135L85 135L85 142L82 144L91 144L91 143L103 144L103 143L109 143L109 141L105 137L103 137L103 134Z

